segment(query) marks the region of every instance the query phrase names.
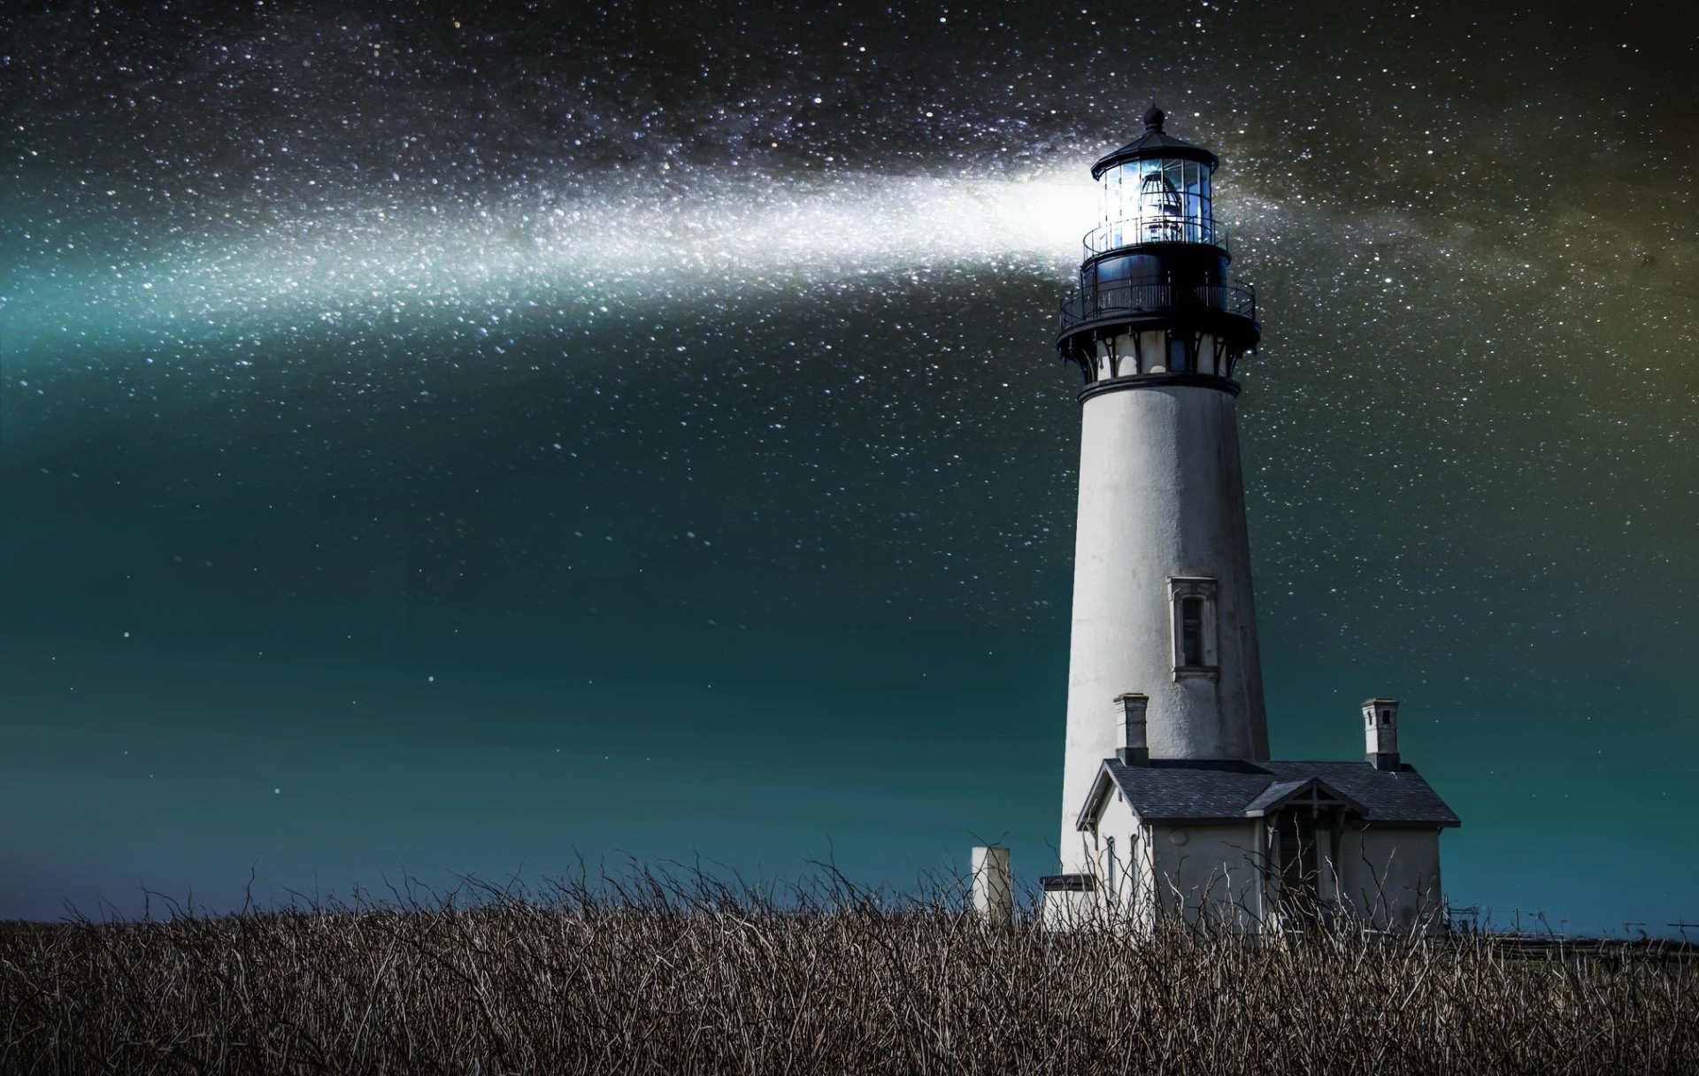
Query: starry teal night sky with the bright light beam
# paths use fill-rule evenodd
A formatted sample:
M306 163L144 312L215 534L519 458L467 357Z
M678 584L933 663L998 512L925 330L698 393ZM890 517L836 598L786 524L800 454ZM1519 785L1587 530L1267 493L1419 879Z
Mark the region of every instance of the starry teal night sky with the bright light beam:
M1699 24L1628 3L0 15L0 918L1053 869L1091 161L1215 150L1276 756L1699 921ZM1624 926L1629 925L1629 926Z

